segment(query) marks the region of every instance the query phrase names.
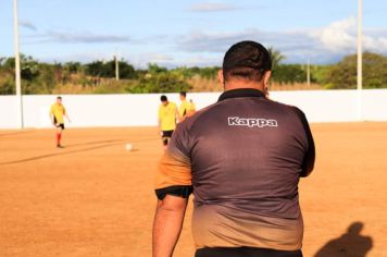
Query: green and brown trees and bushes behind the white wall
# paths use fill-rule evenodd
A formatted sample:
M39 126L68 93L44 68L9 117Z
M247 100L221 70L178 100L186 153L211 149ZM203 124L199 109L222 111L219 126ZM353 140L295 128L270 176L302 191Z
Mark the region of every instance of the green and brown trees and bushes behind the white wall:
M270 48L273 60L272 82L280 85L307 83L307 65L284 64L285 57ZM14 58L0 58L0 95L15 94ZM120 81L115 81L115 60L90 63L46 63L32 57L21 57L23 94L124 94L173 93L199 90L192 85L205 81L216 83L219 66L166 69L151 63L136 69L125 60L118 61ZM311 65L311 82L326 89L349 89L357 86L357 56L345 57L329 65ZM363 54L363 87L387 87L387 57ZM77 89L74 89L77 88Z

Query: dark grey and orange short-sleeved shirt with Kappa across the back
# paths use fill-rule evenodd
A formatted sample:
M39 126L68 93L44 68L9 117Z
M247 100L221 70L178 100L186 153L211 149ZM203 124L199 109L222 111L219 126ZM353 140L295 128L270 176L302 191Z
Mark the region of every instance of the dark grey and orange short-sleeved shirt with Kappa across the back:
M313 170L314 156L302 111L260 90L228 90L178 124L155 193L162 199L194 191L197 248L300 249L298 183Z

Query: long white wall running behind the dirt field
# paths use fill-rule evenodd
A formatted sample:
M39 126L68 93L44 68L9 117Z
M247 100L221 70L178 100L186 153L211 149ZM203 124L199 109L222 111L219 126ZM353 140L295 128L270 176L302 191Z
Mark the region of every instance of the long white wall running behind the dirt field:
M221 93L189 94L198 109L215 102ZM161 94L64 95L71 127L157 125ZM178 94L167 94L178 103ZM273 91L271 98L303 110L310 122L387 121L387 89ZM362 99L362 101L360 101ZM23 96L26 127L49 127L49 109L55 96ZM15 96L0 96L0 128L17 127Z

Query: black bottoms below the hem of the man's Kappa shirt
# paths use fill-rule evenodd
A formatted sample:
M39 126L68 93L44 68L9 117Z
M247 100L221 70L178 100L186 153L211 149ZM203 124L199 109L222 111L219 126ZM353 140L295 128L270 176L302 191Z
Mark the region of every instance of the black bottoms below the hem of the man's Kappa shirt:
M195 257L302 257L301 250L276 250L255 247L201 248Z

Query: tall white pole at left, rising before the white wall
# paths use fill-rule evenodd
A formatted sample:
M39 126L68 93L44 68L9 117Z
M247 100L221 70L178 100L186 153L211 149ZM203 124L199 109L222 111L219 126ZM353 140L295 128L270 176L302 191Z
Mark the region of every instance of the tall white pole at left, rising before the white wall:
M15 51L15 84L17 102L17 122L18 128L24 127L23 122L23 101L22 101L22 76L21 76L21 53L18 49L18 17L17 0L13 0L13 30L14 30L14 51Z

